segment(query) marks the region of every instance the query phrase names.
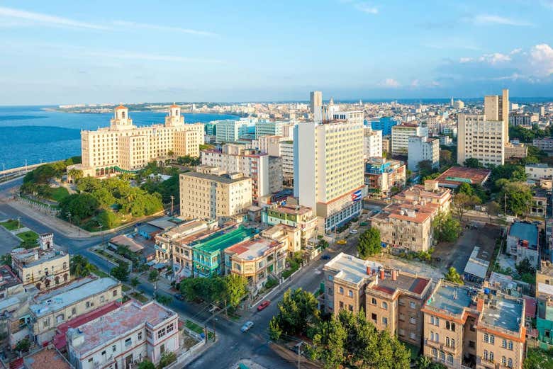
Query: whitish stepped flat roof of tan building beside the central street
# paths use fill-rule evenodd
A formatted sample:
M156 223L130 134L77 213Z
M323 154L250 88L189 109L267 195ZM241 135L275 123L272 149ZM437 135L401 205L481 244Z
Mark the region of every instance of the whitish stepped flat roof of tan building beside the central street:
M324 266L325 269L332 269L338 272L335 278L356 285L367 278L372 278L372 275L367 274L367 267L372 271L374 270L375 273L379 268L384 268L381 263L376 263L376 261L358 259L343 252L337 254L334 259Z

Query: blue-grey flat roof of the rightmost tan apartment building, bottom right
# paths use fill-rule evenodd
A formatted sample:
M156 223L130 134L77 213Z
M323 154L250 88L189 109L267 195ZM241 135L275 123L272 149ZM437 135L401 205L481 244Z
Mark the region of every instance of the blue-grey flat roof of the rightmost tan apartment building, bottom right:
M493 327L518 332L524 314L524 300L493 296L489 306L484 305L481 321Z

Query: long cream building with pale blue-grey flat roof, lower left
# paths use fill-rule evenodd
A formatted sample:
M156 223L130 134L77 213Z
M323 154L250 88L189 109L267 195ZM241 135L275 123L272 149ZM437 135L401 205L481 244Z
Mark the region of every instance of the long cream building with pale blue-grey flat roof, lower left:
M70 319L121 300L121 283L112 278L81 278L47 293L30 305L31 334L39 345L51 341L56 328Z

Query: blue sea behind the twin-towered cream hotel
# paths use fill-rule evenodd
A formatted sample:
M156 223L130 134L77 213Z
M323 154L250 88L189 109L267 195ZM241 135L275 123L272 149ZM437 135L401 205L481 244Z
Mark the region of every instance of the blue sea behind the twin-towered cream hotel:
M60 113L43 106L0 106L0 170L81 154L81 130L106 127L113 113ZM129 111L138 126L164 123L167 113ZM235 115L184 113L186 123L238 119Z

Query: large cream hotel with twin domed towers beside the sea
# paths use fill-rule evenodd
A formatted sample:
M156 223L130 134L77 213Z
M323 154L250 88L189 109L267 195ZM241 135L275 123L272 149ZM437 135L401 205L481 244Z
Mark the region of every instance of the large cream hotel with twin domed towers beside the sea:
M104 176L114 171L142 169L153 159L189 155L199 157L203 144L203 124L185 124L181 108L169 107L165 124L137 127L128 108L118 106L109 127L81 131L84 175Z

